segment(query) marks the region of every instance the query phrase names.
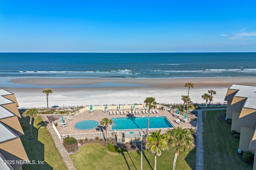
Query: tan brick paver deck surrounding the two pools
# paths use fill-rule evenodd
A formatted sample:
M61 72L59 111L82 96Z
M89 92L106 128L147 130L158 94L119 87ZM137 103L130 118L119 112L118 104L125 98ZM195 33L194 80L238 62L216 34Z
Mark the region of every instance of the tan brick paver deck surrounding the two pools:
M126 112L129 111L128 109L125 109ZM140 112L142 112L141 109ZM156 109L155 109L156 110ZM110 110L110 111L114 111L114 110ZM115 110L116 111L116 110ZM122 110L124 111L124 110ZM174 117L172 113L170 113L169 111L164 111L164 110L160 110L158 109L159 114L150 114L150 116L166 116L169 121L172 123L172 125L174 127L184 127L184 128L191 128L191 127L196 127L196 124L194 124L193 121L193 117L191 116L191 119L188 119L188 115L187 115L187 122L186 123L182 123L182 124L177 124L174 122L174 120L178 119L177 117ZM112 117L147 117L148 114L136 114L136 115L131 115L126 113L126 115L109 115L109 112L102 112L102 110L95 110L93 113L89 113L88 111L85 111L84 113L80 113L77 116L73 117L73 120L66 120L67 123L67 127L60 127L60 124L58 124L57 129L60 132L60 135L66 135L66 134L81 134L81 133L97 133L97 132L103 132L104 131L104 127L102 127L101 125L99 125L98 127L94 128L94 129L89 129L89 130L78 130L76 128L74 128L74 124L76 124L79 121L83 121L83 120L96 120L100 123L100 121L104 118L112 118ZM180 116L180 119L183 119L182 116ZM108 128L109 131L109 128Z

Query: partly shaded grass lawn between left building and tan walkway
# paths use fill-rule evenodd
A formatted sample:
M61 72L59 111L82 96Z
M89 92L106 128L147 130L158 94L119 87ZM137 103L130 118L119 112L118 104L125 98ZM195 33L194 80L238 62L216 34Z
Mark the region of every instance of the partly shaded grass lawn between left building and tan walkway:
M46 127L40 128L42 117L38 116L32 121L33 141L30 141L29 118L19 119L21 123L27 125L28 129L24 131L25 135L20 137L22 144L26 150L29 160L44 161L44 164L28 164L29 169L33 170L66 170L66 164L60 156L60 152L55 147L54 142ZM39 129L38 129L39 128Z

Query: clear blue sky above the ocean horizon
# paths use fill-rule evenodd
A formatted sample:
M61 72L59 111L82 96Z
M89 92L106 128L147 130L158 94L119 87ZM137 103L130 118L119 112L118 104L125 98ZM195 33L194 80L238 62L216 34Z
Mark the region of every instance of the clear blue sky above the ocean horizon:
M255 7L255 0L0 0L0 51L256 51Z

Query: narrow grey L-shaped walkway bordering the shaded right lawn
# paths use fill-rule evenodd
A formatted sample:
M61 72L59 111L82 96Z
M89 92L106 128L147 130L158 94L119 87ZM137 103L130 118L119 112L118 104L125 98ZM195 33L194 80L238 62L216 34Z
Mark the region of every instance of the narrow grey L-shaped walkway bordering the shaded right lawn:
M221 109L207 109L207 110L223 110L223 109L221 108ZM197 112L198 125L197 125L197 131L196 131L196 170L204 169L204 145L203 145L204 131L203 131L202 111L204 111L204 109L198 110Z

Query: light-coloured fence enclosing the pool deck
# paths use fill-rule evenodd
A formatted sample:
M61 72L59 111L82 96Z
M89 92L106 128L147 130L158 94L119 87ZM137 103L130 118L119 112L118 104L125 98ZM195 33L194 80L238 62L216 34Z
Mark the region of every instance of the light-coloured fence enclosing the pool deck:
M144 105L140 104L140 105L136 105L136 108L142 109ZM133 107L133 105L121 105L121 109L130 109L131 107ZM105 106L93 106L94 110L102 110L105 109ZM168 106L163 106L161 104L158 104L157 107L158 109L165 109L167 111L170 111L172 114L176 113L176 109L170 108ZM117 109L117 106L108 106L108 109ZM82 109L79 109L73 113L70 113L66 116L63 116L64 121L68 120L68 119L72 119L73 117L75 117L76 115L80 114L80 113L84 113L85 111L90 110L90 106L86 106ZM180 114L180 119L184 118L184 112L182 111L178 111ZM190 112L187 113L186 117L188 119L192 119L192 118L197 118L195 115L192 115ZM99 137L99 139L104 139L104 135L105 132L96 132L96 133L76 133L76 134L64 134L61 135L60 132L58 131L58 129L55 127L54 123L61 123L62 122L62 118L57 119L55 121L52 122L52 127L54 128L54 131L57 133L58 137L60 138L60 140L63 140L65 137L74 137L75 139L95 139L96 137ZM191 129L194 129L195 131L197 130L197 125L196 127L191 126ZM166 131L169 128L160 128L162 131L161 133L166 133ZM170 128L172 129L172 128ZM159 129L149 129L149 132L153 132ZM132 131L136 131L141 133L141 130L132 130ZM111 132L107 132L107 138L116 138L118 142L123 143L126 140L126 137L124 136L124 132L125 131L111 131ZM146 134L146 130L143 129L143 134ZM141 135L141 134L140 134ZM131 139L130 141L140 141L137 140L136 137L130 137L129 139Z

